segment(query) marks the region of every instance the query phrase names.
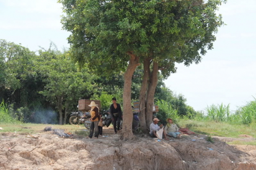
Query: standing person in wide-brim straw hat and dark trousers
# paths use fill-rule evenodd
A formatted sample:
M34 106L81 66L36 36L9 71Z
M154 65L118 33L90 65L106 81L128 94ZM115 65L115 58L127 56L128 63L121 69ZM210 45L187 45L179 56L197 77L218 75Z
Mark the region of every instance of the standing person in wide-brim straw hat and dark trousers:
M99 135L98 124L99 124L99 120L100 120L99 107L97 107L98 104L96 104L94 101L91 101L90 105L88 105L88 106L91 107L91 111L90 111L91 125L90 125L90 134L86 138L92 138L93 133L94 133L94 139L97 139L98 135Z

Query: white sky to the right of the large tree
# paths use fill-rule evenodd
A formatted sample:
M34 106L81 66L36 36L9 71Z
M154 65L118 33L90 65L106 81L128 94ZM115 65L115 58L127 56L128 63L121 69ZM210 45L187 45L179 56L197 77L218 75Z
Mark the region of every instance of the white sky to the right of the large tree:
M227 25L219 28L214 49L198 65L177 65L177 73L165 81L195 110L221 103L236 110L256 97L255 8L256 0L223 4L219 13Z

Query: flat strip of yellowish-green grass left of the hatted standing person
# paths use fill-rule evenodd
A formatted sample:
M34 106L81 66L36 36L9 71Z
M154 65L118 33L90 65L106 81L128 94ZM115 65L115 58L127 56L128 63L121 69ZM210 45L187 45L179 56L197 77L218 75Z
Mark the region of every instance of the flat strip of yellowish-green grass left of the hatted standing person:
M40 133L44 130L46 126L51 126L52 129L64 129L65 133L75 132L82 129L85 129L84 125L58 125L58 124L35 124L35 123L1 123L0 133L13 133L18 134L33 134ZM26 129L25 129L26 127Z

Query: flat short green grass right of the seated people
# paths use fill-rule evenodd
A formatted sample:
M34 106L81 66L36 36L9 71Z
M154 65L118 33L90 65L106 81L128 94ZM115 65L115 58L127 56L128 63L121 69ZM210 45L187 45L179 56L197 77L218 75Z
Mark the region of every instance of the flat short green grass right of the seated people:
M184 120L179 121L179 126L204 135L241 138L239 135L256 137L256 124L235 124L230 122L215 122L212 120Z

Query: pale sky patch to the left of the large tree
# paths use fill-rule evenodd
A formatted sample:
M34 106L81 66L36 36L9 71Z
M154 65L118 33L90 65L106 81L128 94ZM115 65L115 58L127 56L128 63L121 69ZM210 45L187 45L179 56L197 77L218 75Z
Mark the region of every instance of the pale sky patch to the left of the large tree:
M62 30L62 5L57 0L0 0L0 39L21 43L32 51L69 47L69 32Z

